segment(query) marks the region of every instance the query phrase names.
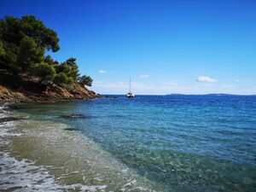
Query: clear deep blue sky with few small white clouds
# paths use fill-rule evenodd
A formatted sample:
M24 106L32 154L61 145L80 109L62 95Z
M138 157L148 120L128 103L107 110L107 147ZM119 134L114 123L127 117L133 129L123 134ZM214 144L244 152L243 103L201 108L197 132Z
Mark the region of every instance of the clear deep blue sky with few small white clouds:
M256 94L255 0L1 0L57 32L100 94Z

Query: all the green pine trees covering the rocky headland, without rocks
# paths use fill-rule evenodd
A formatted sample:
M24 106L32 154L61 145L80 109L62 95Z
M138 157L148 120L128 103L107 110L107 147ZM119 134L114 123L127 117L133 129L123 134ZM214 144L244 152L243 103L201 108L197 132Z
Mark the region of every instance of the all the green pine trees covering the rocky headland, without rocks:
M0 20L0 66L12 73L35 77L38 84L57 84L67 87L73 82L91 86L90 76L81 76L76 59L55 61L46 51L60 49L57 33L44 26L35 16L21 19L5 16Z

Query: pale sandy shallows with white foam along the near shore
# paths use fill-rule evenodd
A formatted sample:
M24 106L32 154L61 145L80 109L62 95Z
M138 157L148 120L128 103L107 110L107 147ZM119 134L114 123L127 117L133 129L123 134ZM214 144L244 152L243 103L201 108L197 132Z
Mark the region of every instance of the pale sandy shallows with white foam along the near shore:
M20 120L0 124L0 189L154 191L146 178L78 131L68 131L68 125L27 119L27 115L10 111L4 117Z

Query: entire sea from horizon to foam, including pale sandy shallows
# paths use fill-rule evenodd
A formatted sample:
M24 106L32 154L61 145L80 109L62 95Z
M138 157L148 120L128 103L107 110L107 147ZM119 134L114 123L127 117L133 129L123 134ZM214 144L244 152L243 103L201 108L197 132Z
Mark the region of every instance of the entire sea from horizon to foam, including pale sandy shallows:
M3 104L2 191L256 191L256 96Z

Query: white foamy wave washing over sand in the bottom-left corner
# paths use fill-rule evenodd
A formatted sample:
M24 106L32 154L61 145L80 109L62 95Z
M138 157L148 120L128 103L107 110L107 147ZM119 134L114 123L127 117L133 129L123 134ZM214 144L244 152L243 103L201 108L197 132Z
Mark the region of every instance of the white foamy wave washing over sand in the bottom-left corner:
M48 166L35 166L30 160L16 160L9 153L0 152L2 170L0 190L20 189L19 191L62 191L64 189L82 191L104 191L107 185L87 186L84 184L61 185L49 175Z

